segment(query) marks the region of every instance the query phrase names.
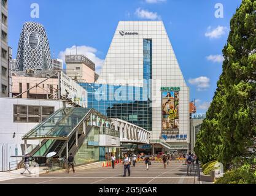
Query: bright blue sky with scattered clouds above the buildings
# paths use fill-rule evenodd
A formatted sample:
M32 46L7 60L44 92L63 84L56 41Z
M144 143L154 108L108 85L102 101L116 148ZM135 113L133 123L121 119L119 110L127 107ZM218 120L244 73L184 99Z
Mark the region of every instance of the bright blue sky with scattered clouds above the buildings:
M222 73L230 19L241 1L9 0L8 43L15 58L23 24L41 23L52 58L63 59L77 50L95 62L100 74L118 21L162 20L190 88L190 100L195 99L197 113L205 113ZM31 17L34 3L39 6L39 18Z

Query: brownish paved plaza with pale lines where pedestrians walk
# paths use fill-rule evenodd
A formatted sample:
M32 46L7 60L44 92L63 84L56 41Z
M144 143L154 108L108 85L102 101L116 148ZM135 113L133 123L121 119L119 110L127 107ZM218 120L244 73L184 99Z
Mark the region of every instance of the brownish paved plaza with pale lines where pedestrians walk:
M171 162L167 168L163 164L154 163L145 170L145 164L138 163L131 166L131 176L123 177L123 165L95 168L90 170L77 170L68 174L66 171L55 171L41 174L39 178L29 175L13 176L14 179L2 179L4 184L200 184L196 175L196 167L192 175L187 176L187 166L180 162ZM1 176L0 176L1 180Z

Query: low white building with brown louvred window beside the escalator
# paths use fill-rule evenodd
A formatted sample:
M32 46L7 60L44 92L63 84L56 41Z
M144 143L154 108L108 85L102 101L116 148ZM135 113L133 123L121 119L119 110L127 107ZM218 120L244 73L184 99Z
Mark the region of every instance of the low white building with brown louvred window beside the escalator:
M23 154L23 135L59 108L63 108L60 100L0 97L0 111L4 111L0 113L0 143L15 145L17 154ZM31 145L38 145L38 141L28 143L28 148L30 146L31 149Z

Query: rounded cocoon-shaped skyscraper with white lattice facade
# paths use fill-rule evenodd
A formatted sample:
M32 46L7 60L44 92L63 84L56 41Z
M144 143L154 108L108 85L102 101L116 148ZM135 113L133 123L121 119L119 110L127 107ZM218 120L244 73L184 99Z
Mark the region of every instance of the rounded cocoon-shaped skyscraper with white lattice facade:
M50 47L44 26L27 22L18 43L17 71L52 69Z

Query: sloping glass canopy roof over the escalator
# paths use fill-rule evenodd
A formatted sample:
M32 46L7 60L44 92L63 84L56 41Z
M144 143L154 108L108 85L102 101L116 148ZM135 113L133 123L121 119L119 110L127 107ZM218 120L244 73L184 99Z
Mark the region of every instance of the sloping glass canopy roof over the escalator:
M90 108L61 108L53 113L50 118L29 131L23 137L23 140L66 139L91 110Z

